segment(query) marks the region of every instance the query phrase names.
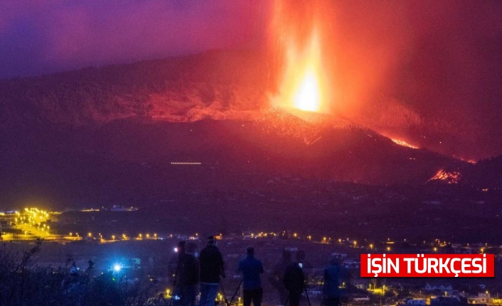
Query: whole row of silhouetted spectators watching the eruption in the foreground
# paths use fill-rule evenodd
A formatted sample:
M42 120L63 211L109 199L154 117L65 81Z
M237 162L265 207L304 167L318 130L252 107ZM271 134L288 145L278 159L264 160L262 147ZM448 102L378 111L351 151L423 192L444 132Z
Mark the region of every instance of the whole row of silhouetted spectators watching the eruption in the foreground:
M173 298L177 305L196 306L196 285L200 283L201 299L198 306L215 306L220 278L226 277L223 256L213 236L209 237L199 258L193 251L187 248L185 241L179 242ZM280 305L286 306L289 302L290 306L299 306L302 293L306 293L304 268L311 268L311 265L305 262L303 251L297 252L297 261L292 261L291 257L291 252L284 251L282 261L274 266L268 279L279 292ZM250 306L251 302L254 306L261 306L263 288L260 274L264 273L264 269L262 262L255 258L255 248L252 246L246 248L246 256L239 261L238 271L242 274L244 306ZM324 306L340 305L342 280L349 280L348 272L341 266L340 258L333 258L324 270Z

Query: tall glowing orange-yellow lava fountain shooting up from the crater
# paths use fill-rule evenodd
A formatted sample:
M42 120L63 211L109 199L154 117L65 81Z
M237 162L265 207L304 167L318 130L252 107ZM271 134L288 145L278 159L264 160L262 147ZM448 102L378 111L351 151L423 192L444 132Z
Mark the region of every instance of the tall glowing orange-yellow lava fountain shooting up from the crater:
M287 110L329 113L332 93L326 65L330 60L323 53L326 35L319 16L321 10L316 5L319 1L310 4L305 7L306 4L295 6L286 1L274 3L272 52L279 60L274 62L278 66L274 76L277 89L271 102L272 106Z

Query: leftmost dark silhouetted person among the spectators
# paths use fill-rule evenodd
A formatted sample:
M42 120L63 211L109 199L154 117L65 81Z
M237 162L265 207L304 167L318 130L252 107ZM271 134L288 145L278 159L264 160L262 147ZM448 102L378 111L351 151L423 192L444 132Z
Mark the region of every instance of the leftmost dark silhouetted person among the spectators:
M198 263L195 256L186 252L185 241L178 243L178 281L177 293L182 306L194 306L196 303L196 285L198 282Z

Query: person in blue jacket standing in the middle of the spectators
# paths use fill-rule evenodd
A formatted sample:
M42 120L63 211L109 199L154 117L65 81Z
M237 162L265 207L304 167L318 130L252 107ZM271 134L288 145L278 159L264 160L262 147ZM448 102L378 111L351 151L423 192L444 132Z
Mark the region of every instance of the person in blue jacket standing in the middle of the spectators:
M255 248L246 248L246 257L239 261L239 272L242 273L242 293L244 306L262 305L263 289L260 274L263 273L262 262L255 258Z

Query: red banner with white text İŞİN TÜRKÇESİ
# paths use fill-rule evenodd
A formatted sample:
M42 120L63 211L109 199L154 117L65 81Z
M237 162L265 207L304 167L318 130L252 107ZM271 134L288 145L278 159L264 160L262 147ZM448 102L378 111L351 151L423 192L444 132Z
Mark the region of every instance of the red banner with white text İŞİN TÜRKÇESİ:
M361 277L493 278L493 254L361 254Z

